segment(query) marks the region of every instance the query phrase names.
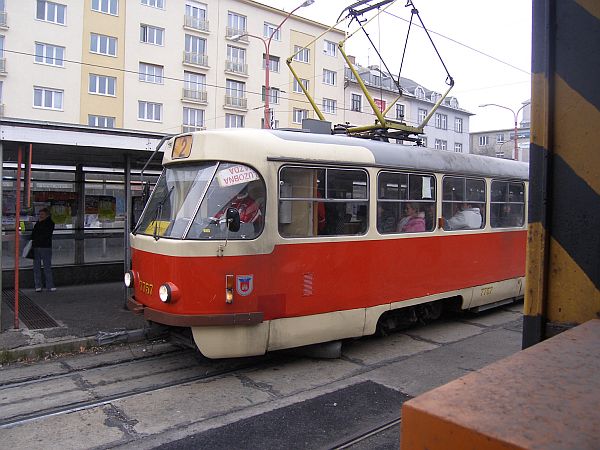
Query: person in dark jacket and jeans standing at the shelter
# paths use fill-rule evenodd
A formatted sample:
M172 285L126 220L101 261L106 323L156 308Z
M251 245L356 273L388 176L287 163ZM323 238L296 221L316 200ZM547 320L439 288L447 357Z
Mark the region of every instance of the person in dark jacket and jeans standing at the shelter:
M52 233L54 233L54 222L50 218L50 211L48 211L48 208L42 208L39 219L31 233L31 240L33 241L33 280L36 292L42 290L42 263L44 264L46 289L56 290L52 280Z

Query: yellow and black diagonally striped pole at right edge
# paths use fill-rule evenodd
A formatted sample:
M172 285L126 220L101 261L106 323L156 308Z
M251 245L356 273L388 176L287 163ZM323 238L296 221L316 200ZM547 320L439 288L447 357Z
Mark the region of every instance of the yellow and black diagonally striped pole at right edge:
M534 0L523 348L600 317L600 1Z

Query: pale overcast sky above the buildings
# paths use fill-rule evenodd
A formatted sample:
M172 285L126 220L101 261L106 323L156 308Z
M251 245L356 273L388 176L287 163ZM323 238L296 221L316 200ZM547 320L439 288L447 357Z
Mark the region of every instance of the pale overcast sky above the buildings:
M291 11L303 0L258 1ZM315 0L296 14L333 25L342 10L355 1ZM514 116L510 111L478 105L498 103L516 111L530 99L531 1L413 0L413 3L454 78L455 85L449 95L458 99L461 108L475 114L469 131L511 128ZM382 13L366 27L373 42L377 46L381 42L380 53L395 74L400 68L411 16L410 8L405 5L406 0L397 0L386 10L390 14ZM372 15L369 13L367 17ZM416 16L414 21L419 23ZM356 22L348 28L346 21L338 28L352 32ZM383 67L362 31L347 42L346 49L360 65ZM411 29L402 76L440 93L447 89L446 71L424 31L415 26Z

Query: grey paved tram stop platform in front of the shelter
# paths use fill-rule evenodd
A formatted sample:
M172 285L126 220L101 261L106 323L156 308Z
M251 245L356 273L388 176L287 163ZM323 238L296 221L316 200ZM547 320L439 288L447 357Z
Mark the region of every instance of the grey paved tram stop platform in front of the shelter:
M59 286L55 292L21 289L19 329L14 328L11 308L14 291L4 290L0 301L0 364L80 351L99 342L143 339L146 322L124 307L124 289L121 282Z

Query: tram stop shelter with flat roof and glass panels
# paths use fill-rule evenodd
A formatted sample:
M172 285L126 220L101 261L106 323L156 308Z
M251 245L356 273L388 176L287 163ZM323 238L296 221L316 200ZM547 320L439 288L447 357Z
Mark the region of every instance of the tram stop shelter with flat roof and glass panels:
M140 172L164 136L0 119L3 294L14 288L16 261L19 288L33 287L32 260L21 258L20 252L44 207L56 223L52 265L59 288L122 279L129 266L129 231L143 208ZM151 185L161 159L156 155L144 171L143 180Z

